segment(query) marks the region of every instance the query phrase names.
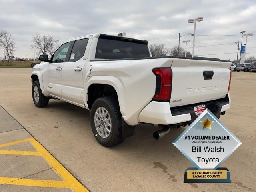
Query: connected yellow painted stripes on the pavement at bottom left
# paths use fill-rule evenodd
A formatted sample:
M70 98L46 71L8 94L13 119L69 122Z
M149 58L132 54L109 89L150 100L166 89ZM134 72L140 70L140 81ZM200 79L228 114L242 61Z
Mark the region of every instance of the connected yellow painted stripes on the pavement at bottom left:
M36 151L18 151L18 150L0 150L0 154L8 155L34 155L42 156L44 160L51 166L52 169L59 174L63 181L55 180L34 180L25 178L9 178L0 177L0 184L37 186L37 187L55 187L55 188L70 188L74 192L88 192L88 190L66 170L39 142L34 138L28 138L20 141L0 144L1 147L20 144L22 142L30 142Z

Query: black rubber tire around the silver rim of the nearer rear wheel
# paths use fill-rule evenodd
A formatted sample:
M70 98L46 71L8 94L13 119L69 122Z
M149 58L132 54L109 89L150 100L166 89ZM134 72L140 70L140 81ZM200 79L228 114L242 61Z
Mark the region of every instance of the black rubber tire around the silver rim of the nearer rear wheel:
M100 136L97 132L94 123L94 115L99 107L103 107L108 111L111 119L111 130L106 138ZM112 147L124 141L122 137L122 120L118 100L114 97L101 97L98 98L93 104L91 109L91 128L96 140L105 147ZM102 122L103 123L103 122Z

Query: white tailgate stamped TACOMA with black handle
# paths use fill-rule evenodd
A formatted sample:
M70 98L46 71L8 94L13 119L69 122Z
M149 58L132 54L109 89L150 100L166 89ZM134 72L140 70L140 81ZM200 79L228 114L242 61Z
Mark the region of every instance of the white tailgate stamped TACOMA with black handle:
M230 62L174 58L170 107L224 98L230 65Z

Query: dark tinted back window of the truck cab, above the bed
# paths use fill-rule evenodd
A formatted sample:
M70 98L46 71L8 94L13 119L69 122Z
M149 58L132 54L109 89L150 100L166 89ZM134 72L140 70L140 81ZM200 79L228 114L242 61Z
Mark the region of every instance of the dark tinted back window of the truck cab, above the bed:
M116 36L100 36L95 59L125 59L149 57L146 41Z

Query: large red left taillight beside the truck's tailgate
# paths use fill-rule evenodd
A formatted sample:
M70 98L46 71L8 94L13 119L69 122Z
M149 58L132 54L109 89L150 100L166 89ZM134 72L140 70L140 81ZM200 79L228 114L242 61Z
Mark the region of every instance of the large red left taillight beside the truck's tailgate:
M170 67L154 68L156 75L156 92L153 100L170 101L172 92L172 69Z

